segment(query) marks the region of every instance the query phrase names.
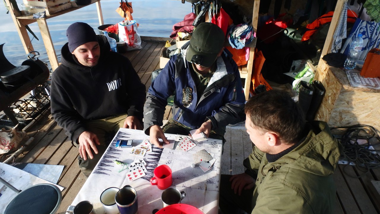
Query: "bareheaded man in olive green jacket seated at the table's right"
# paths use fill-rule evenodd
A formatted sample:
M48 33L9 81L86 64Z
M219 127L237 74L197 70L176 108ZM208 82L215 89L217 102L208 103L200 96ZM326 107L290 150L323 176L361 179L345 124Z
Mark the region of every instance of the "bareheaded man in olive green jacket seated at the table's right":
M245 113L245 128L255 146L244 160L244 173L222 175L222 213L239 213L238 208L252 214L332 213L336 200L332 174L340 152L328 125L306 123L284 91L252 97Z

